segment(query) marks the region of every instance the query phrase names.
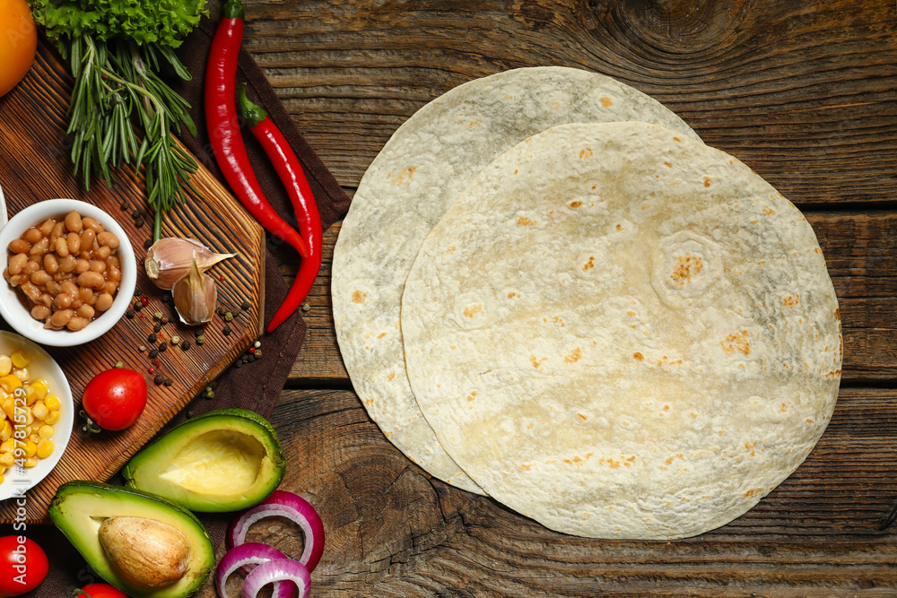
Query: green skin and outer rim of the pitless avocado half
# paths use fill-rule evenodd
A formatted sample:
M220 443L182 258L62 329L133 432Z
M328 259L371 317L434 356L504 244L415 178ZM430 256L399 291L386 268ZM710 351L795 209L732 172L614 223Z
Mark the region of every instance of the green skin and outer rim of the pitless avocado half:
M177 438L179 434L189 429L208 431L219 421L246 421L247 429L252 430L254 438L266 449L266 458L271 463L269 467L270 477L266 479L265 483L260 484L253 494L240 499L204 498L183 489L175 489L180 491L172 492L170 491L171 489L167 488L149 487L146 481L141 482L139 480L141 468L150 466L153 459L158 461L161 460L162 456L166 455L166 446L168 446L170 438ZM173 456L170 455L171 458ZM137 455L134 455L122 469L122 474L125 477L128 488L150 491L192 511L200 513L227 513L252 507L267 498L283 480L285 469L286 456L271 422L258 413L246 409L217 409L196 415L196 417L183 421L170 429L164 436L158 438L151 445L144 447Z

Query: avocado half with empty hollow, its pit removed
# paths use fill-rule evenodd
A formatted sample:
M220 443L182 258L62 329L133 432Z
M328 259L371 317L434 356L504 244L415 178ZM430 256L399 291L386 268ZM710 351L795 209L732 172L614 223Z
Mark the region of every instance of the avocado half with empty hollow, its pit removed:
M135 455L127 486L191 511L238 511L261 502L283 480L283 446L257 413L222 409L197 415Z

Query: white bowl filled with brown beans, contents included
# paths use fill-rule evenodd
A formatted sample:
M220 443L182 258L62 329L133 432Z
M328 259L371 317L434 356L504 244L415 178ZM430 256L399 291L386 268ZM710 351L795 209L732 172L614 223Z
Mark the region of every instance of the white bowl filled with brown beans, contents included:
M95 205L32 204L0 230L0 247L0 315L34 342L90 342L118 322L134 296L134 249Z

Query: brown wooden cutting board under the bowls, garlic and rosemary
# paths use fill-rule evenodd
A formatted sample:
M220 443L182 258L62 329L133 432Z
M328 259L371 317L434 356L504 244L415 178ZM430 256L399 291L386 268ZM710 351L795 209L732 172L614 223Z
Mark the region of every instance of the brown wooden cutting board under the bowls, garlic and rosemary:
M83 388L91 377L112 368L117 361L144 373L149 397L140 420L119 432L103 431L86 437L79 429L79 418L75 417L72 438L62 460L44 481L27 492L25 502L30 522L46 518L48 504L63 482L109 479L187 402L248 350L261 334L264 319L260 312L264 305L264 230L200 164L193 184L201 196L190 194L185 204L171 210L163 222L162 237L196 238L213 250L238 255L210 271L220 277L216 281L218 306L231 310L234 317L228 323L216 315L205 326L203 345L196 344L200 328L176 323L171 302L163 300L163 292L150 282L142 267L146 256L144 242L152 238L152 218L146 218L143 226L138 227L133 214L136 209L152 213L146 203L143 173L135 173L130 168L118 169L114 172L112 188L101 180L93 180L90 191L74 175L69 159L72 141L65 133L72 84L57 54L41 40L30 74L0 98L0 186L10 216L44 199L71 197L100 206L126 230L137 259L137 293L148 300L147 306L133 319L123 317L96 341L79 347L48 347L48 352L68 376L76 412L81 409ZM246 310L240 308L244 301L249 305ZM137 295L135 302L140 302ZM171 322L161 327L163 338L151 344L147 338L153 333L156 312ZM230 334L224 334L225 325L230 326ZM173 346L174 335L192 346L187 350L181 348L183 345ZM168 342L168 349L160 352L158 364L154 364L148 351L162 341ZM146 351L139 351L141 345ZM159 374L170 378L171 385L155 384L154 378ZM0 503L3 523L15 520L13 503L13 500Z

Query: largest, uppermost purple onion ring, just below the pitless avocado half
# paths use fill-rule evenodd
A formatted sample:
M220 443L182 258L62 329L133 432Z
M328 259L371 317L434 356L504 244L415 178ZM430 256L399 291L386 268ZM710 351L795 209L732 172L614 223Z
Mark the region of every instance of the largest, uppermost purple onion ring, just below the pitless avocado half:
M298 561L309 569L309 573L314 571L324 553L324 523L315 507L298 494L286 490L274 490L271 496L244 511L231 523L228 542L231 546L239 546L246 540L250 525L259 519L272 516L286 517L302 528L305 550L302 550L302 556Z

